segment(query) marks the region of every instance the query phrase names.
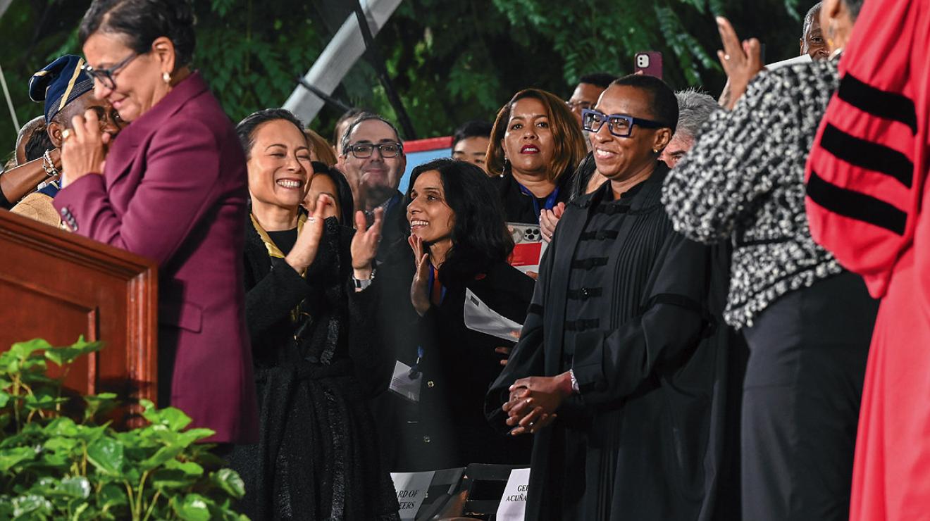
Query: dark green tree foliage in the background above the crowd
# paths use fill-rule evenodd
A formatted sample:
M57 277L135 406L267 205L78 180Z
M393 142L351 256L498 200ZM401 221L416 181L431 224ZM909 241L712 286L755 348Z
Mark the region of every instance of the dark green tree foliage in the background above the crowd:
M798 52L801 17L813 0L405 0L376 38L418 137L448 135L469 119L491 119L512 94L538 86L567 97L588 72L631 72L637 51L658 50L672 87L724 84L715 50L714 14L741 37L766 44L767 61ZM41 114L27 95L34 71L77 48L89 0L13 0L0 19L0 66L20 124ZM195 65L239 121L284 103L350 13L349 0L194 0ZM355 106L392 108L364 60L335 96ZM15 141L0 104L0 151ZM325 108L311 126L330 136L339 111Z

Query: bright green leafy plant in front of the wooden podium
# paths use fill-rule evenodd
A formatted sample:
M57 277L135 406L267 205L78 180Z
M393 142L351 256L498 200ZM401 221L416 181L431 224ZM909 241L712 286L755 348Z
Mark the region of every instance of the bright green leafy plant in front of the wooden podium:
M36 339L0 354L0 518L246 519L232 508L242 479L197 443L213 431L187 429L183 411L148 400L148 424L118 431L106 421L114 394L65 397L46 375L49 362L67 371L101 348Z

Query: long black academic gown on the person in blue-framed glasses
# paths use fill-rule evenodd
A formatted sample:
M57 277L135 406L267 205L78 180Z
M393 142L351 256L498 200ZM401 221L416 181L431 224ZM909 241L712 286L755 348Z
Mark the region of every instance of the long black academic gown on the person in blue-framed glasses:
M485 412L525 376L572 369L580 393L536 437L526 518L710 519L723 441L726 353L715 328L725 263L675 233L659 163L612 201L567 205L540 267L520 342Z

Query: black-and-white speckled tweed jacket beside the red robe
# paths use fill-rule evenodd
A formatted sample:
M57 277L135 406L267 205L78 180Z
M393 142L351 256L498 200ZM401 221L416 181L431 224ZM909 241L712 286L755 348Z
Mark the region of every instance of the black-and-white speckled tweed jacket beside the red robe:
M837 61L761 72L733 111L715 111L666 178L674 227L702 242L733 241L724 319L737 328L779 296L843 268L811 239L804 163L839 86Z

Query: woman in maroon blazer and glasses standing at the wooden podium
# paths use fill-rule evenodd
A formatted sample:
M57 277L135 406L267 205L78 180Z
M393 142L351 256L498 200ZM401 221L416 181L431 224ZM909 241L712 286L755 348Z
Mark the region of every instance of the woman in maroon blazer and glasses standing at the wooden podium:
M233 124L189 69L192 7L95 0L80 39L95 95L129 125L110 143L93 112L73 118L55 206L73 232L158 261L159 405L216 431L210 441L254 441L246 163Z

